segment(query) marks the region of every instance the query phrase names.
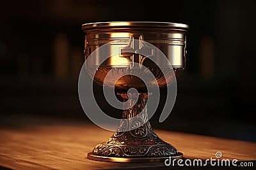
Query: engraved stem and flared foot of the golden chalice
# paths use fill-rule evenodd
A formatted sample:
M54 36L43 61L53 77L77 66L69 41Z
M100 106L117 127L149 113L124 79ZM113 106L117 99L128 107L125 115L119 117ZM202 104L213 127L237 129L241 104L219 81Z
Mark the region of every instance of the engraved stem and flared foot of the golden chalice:
M127 94L119 95L127 101ZM108 141L95 146L93 152L88 153L88 159L108 162L160 162L169 157L181 159L182 153L160 139L148 122L145 108L147 94L140 94L136 104L129 97L128 104L134 106L124 110L124 119L118 130Z

